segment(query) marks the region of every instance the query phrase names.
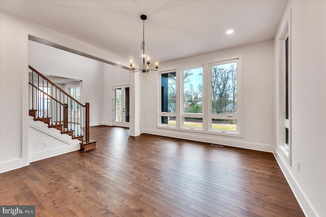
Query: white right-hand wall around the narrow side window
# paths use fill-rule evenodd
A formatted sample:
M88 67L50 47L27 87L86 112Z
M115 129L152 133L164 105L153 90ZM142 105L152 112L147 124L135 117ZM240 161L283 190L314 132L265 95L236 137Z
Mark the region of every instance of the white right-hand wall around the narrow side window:
M326 4L290 1L275 36L275 120L278 120L279 38L292 10L292 166L275 156L306 216L326 216ZM275 132L278 123L275 125ZM279 135L276 135L278 137ZM297 162L301 170L297 171Z

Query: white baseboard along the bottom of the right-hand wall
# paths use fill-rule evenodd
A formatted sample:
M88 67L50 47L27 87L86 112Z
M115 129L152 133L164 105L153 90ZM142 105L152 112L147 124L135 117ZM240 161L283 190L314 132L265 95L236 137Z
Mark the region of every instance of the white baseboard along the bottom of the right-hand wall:
M287 162L283 159L282 154L279 154L275 147L273 154L304 214L309 217L318 216L306 194L303 192L296 179L292 176L291 171L288 170L286 166Z

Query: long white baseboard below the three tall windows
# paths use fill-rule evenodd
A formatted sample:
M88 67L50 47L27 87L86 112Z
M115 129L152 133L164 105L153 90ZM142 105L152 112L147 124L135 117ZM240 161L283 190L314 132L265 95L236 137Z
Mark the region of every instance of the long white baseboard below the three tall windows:
M179 132L167 132L167 131L158 131L158 130L151 130L151 129L142 129L140 133L148 133L158 136L167 136L167 137L173 137L178 139L186 139L186 140L192 140L192 141L198 141L198 142L207 142L212 144L220 144L220 145L227 145L232 147L238 147L238 148L246 148L251 150L259 150L259 151L265 151L265 152L273 152L274 147L273 145L266 145L266 144L258 144L258 143L250 143L250 142L241 142L241 141L235 141L235 140L229 140L229 139L221 139L217 138L214 135L204 135L204 136L198 136L198 135L189 135Z

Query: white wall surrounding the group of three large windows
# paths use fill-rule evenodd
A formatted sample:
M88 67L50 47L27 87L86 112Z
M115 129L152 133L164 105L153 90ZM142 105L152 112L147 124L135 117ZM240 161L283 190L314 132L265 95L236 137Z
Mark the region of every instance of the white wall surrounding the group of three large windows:
M179 59L161 64L159 71L200 66L209 73L209 63L243 55L243 138L158 129L158 73L141 74L141 132L230 146L273 151L273 41ZM152 125L154 123L154 126ZM249 132L253 137L249 137Z

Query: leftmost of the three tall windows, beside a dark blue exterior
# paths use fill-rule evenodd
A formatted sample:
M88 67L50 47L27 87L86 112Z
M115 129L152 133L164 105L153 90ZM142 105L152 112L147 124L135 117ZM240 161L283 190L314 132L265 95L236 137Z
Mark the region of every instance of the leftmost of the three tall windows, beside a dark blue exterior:
M176 72L160 74L160 125L176 127L177 79Z

